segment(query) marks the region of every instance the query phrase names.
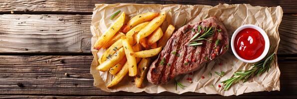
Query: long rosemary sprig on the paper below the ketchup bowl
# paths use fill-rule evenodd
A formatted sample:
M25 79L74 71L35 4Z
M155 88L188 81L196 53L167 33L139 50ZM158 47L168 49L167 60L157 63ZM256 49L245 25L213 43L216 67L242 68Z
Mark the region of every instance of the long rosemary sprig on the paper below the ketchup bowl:
M265 71L268 72L270 68L270 63L275 56L275 52L272 53L269 57L265 60L259 61L254 63L252 66L253 68L247 71L237 71L233 75L234 77L223 81L223 85L225 85L224 90L227 91L231 85L243 80L244 82L248 81L252 76L259 76L260 74L264 73Z

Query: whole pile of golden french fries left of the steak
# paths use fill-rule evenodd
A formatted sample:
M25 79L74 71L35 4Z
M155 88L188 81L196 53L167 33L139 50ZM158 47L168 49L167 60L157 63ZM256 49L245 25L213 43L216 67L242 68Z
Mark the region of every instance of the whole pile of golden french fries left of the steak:
M106 49L98 59L97 70L114 75L108 88L117 85L128 73L135 78L135 86L142 87L150 66L150 57L156 56L166 45L175 27L169 25L165 33L160 28L166 12L146 12L125 23L125 12L100 36L93 49ZM138 64L137 64L138 63Z

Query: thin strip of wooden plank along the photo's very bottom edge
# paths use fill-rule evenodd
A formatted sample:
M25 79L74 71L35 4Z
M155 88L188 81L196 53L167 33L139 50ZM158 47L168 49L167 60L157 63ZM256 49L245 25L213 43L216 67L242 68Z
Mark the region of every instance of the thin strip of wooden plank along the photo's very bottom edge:
M280 96L0 96L3 99L294 99L296 95Z

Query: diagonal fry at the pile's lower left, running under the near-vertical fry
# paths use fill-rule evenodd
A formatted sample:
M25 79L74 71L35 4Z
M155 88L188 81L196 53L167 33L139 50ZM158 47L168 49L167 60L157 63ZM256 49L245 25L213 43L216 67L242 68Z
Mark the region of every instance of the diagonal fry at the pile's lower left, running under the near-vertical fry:
M140 58L136 58L136 62L138 63L140 61ZM107 88L111 88L118 84L128 73L129 71L129 63L128 61L124 64L123 68L114 76L112 81L107 85Z

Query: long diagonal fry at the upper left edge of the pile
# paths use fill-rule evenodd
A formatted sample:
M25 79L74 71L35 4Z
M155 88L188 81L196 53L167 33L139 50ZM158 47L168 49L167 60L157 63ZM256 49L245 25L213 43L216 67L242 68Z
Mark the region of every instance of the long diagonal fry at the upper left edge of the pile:
M125 12L123 12L119 18L117 18L117 20L103 33L102 36L100 36L98 38L98 40L96 41L96 43L93 46L93 49L101 49L101 47L107 42L109 41L116 32L118 32L121 27L123 26L125 21Z

